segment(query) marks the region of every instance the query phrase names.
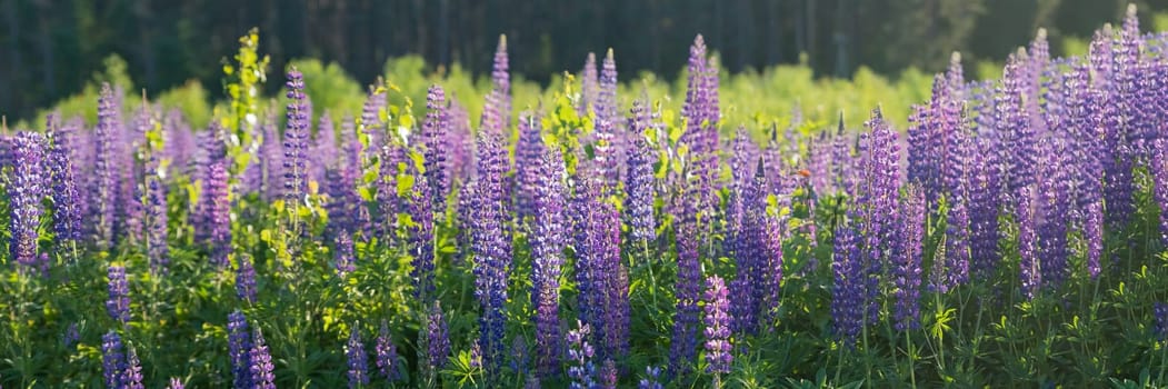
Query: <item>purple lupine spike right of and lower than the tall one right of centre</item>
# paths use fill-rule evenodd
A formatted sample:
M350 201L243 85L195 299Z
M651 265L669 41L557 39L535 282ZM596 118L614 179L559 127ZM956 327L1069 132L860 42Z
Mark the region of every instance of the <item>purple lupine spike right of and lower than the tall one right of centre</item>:
M920 264L922 243L925 238L924 192L915 183L905 189L901 200L898 248L892 256L891 272L896 311L892 321L897 331L920 327Z

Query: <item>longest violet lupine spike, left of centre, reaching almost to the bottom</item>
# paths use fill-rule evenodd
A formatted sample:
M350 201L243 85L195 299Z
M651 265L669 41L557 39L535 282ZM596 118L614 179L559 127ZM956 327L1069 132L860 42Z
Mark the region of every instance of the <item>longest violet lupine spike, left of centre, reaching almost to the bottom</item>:
M493 373L499 371L496 367L506 354L503 328L507 318L503 304L507 301L512 245L510 235L505 234L503 228L509 216L503 204L502 175L507 171L508 158L499 132L482 131L479 137L475 197L470 217L471 244L474 252L475 296L482 307L482 315L479 319L480 341L487 371Z

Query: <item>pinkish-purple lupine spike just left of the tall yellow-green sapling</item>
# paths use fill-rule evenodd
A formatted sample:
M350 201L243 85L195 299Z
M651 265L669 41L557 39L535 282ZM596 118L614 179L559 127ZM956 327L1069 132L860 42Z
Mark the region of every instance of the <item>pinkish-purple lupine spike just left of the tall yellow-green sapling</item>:
M200 201L199 223L203 243L210 246L210 263L216 268L227 268L228 253L231 252L231 202L228 199L228 176L225 161L211 164L203 182L203 196Z

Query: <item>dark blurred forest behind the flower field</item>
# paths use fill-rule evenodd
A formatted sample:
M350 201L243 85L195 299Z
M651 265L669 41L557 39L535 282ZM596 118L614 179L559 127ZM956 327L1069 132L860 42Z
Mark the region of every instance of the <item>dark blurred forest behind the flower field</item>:
M110 54L151 91L195 79L217 91L223 57L259 27L273 69L315 57L373 82L387 58L422 55L431 69L488 70L507 34L512 70L545 81L577 71L588 51L616 50L625 79L674 77L695 34L730 71L804 64L816 76L861 67L895 76L937 71L950 53L1001 62L1047 28L1055 55L1119 20L1128 0L0 0L0 111L27 118L76 93ZM1134 1L1143 28L1168 0ZM972 68L976 75L975 68ZM988 69L988 67L987 67ZM999 68L1000 69L1000 68ZM986 75L981 75L986 76ZM269 83L279 88L279 83ZM214 93L218 96L218 93Z

